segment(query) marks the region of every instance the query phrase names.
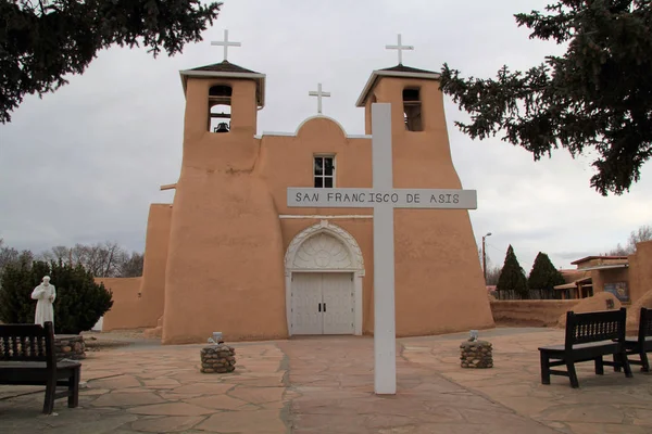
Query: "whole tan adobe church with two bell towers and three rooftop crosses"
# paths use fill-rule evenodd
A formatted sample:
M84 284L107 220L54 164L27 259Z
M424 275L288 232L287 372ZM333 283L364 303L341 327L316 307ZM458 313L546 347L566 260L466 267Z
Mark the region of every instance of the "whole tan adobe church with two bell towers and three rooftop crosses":
M355 103L365 135L321 114L319 85L316 116L256 136L265 75L229 63L226 39L225 61L180 72L174 201L151 205L138 299L114 291L105 323L158 324L164 344L373 334L373 209L290 208L287 189L371 188L375 102L391 103L394 188L461 189L439 74L374 71ZM394 246L397 336L493 326L466 209L396 209Z

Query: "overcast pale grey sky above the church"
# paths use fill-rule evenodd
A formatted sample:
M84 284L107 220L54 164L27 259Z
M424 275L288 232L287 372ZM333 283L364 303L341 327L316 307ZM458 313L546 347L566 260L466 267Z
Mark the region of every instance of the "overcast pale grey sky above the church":
M259 133L294 131L316 114L308 92L322 82L331 97L324 114L348 133L364 133L355 107L369 74L394 66L397 35L409 66L439 71L444 62L464 76L494 76L498 68L527 68L552 43L528 39L513 14L542 10L547 1L501 0L226 0L204 40L174 58L153 59L143 48L99 53L83 76L41 99L27 97L0 125L0 238L17 248L116 241L142 251L148 208L171 202L181 158L184 94L179 69L221 62L229 39L242 42L228 60L267 75ZM590 156L561 150L535 163L499 138L472 141L454 126L464 120L449 98L447 123L455 168L465 189L478 191L471 212L475 238L487 232L493 265L509 244L529 272L538 252L556 267L609 251L652 224L652 165L623 196L603 197L589 187Z

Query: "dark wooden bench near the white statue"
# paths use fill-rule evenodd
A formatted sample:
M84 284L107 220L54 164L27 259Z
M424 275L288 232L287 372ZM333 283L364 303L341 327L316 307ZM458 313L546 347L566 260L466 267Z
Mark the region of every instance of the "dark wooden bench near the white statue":
M54 400L67 397L70 408L77 407L82 363L57 362L52 322L0 324L0 384L45 385L43 413L50 414ZM57 393L57 386L65 392Z

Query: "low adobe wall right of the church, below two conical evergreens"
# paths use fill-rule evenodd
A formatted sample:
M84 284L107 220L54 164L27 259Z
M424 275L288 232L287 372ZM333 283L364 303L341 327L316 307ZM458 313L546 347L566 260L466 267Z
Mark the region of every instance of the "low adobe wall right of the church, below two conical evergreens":
M560 316L579 299L509 299L491 302L493 321L498 324L554 327Z

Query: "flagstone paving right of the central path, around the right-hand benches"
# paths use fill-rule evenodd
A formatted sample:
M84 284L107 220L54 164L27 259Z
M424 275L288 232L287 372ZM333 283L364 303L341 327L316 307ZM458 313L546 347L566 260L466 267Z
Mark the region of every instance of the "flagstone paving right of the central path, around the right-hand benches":
M539 381L539 346L562 343L561 330L488 337L493 344L494 368L459 369L463 339L403 340L403 359L467 388L477 396L511 409L560 433L652 433L652 374L632 365L634 378L605 367L595 375L593 363L576 365L579 388L553 375L550 385ZM481 333L485 339L486 334ZM491 334L489 334L491 335Z

